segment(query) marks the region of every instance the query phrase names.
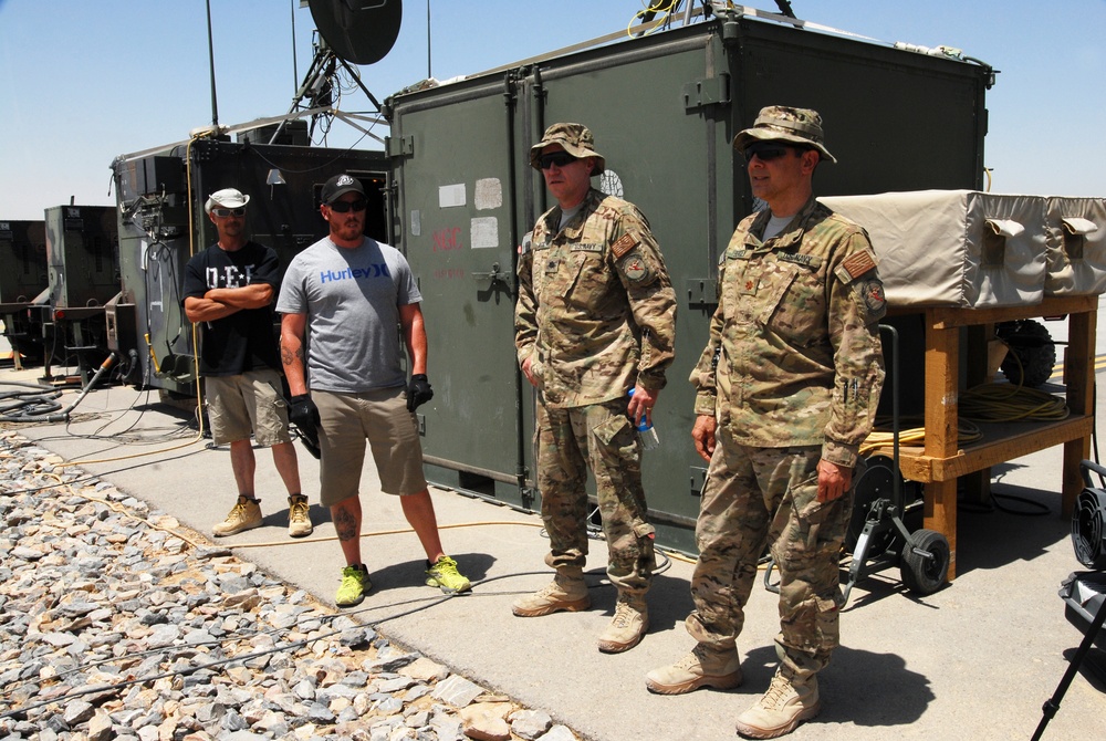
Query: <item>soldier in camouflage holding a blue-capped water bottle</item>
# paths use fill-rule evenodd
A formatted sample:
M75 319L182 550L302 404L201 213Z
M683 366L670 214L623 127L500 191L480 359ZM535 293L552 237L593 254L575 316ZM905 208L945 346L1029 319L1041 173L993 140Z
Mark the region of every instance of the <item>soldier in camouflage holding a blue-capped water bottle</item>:
M519 260L515 345L538 389L538 486L553 582L514 603L521 617L586 609L589 466L607 576L618 589L604 653L636 646L649 625L653 525L635 424L651 420L674 357L676 294L645 217L591 187L605 169L592 133L554 124L530 150L557 205L542 215ZM627 396L633 389L633 396ZM632 420L634 424L632 424Z

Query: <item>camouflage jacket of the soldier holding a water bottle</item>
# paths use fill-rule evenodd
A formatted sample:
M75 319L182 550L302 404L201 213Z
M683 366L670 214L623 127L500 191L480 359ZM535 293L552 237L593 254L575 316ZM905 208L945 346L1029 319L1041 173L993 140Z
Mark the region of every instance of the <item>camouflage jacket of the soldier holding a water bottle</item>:
M519 363L532 358L544 403L578 407L659 389L675 356L676 293L649 223L627 201L591 189L557 230L542 215L519 259Z

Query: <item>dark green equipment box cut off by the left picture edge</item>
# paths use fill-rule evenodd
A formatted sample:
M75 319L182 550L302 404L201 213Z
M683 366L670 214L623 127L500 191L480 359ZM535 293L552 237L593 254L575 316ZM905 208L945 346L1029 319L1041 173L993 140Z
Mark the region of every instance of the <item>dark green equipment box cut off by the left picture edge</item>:
M28 307L50 285L45 221L0 221L0 321L15 354L42 361L42 332L32 327ZM34 331L32 331L32 328Z

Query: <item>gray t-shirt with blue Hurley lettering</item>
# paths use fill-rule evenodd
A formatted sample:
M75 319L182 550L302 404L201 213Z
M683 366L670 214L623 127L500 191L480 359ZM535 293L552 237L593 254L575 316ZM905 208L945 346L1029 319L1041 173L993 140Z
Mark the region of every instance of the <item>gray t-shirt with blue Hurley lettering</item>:
M399 306L421 300L396 248L368 237L356 248L324 238L289 263L276 311L307 314L307 385L356 394L407 383Z

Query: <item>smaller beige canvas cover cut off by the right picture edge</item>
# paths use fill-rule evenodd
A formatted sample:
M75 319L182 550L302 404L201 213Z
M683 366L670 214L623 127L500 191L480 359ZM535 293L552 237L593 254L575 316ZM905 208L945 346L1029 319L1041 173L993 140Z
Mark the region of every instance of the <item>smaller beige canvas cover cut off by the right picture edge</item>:
M1106 291L1106 199L1045 199L1047 295L1098 295Z

